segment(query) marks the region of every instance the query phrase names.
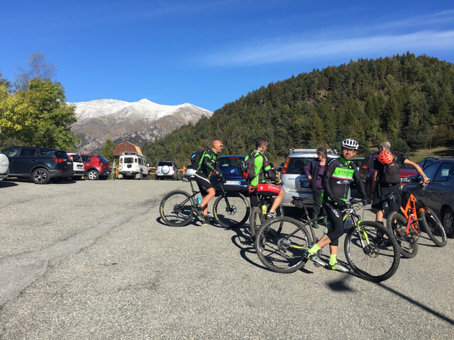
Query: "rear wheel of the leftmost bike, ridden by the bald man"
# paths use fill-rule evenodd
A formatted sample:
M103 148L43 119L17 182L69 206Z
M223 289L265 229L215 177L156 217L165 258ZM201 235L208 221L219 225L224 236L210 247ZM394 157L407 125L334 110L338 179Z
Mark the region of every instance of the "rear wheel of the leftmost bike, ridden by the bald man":
M192 221L196 200L186 191L176 190L162 198L159 212L162 220L172 227L183 227Z

